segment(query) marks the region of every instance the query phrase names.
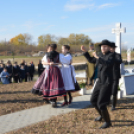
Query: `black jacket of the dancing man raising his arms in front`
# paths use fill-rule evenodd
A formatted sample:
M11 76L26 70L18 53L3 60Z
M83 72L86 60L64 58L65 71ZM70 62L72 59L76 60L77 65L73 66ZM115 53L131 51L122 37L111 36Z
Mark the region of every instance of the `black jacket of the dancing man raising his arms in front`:
M88 52L83 54L90 63L96 63L98 66L98 78L102 84L112 84L113 83L113 66L115 54L107 52L105 55L99 53L99 59L95 57L90 57Z

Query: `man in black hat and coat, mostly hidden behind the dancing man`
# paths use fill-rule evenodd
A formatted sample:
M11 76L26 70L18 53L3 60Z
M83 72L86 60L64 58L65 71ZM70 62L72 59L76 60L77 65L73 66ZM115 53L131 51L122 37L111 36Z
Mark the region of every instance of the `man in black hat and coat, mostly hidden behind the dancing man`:
M113 102L111 110L115 110L116 103L117 103L117 92L118 92L118 85L119 79L121 78L120 74L120 64L122 63L121 54L115 52L115 43L111 42L110 51L115 55L115 62L113 67L113 88L112 88L112 95L113 95Z

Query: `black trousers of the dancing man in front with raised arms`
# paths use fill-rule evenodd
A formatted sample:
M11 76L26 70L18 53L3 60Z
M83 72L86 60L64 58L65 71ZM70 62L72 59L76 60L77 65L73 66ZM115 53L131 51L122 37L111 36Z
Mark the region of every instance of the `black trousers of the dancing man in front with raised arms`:
M100 110L105 110L107 105L110 103L111 93L112 83L102 84L98 79L90 101L93 106L98 106Z

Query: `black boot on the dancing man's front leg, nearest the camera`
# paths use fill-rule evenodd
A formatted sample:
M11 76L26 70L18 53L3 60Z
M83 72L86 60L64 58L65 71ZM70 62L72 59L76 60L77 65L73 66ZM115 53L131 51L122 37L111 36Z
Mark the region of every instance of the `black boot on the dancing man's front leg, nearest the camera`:
M104 129L104 128L108 128L108 127L112 126L107 109L106 110L101 110L101 114L102 114L102 117L103 117L105 122L100 127L100 129Z

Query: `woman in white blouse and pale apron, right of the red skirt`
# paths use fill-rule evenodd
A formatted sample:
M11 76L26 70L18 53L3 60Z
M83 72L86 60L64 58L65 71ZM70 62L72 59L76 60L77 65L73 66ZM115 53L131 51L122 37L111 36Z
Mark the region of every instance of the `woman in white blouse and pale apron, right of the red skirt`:
M60 54L60 62L62 64L61 72L64 81L64 87L66 93L69 95L69 102L67 101L67 96L64 96L64 103L62 106L68 105L72 102L71 92L75 91L76 79L75 79L75 71L74 67L71 65L72 56L69 53L70 46L63 45L62 46L62 54Z

